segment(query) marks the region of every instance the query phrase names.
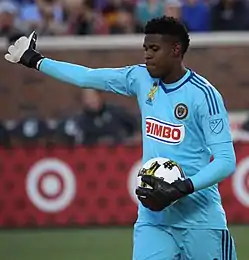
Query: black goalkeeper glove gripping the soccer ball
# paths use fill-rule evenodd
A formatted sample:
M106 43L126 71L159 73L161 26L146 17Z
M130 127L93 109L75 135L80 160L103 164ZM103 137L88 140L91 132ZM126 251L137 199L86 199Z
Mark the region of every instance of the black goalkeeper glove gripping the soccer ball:
M158 177L143 175L142 182L152 189L138 187L136 194L143 206L152 211L161 211L174 201L194 192L190 179L177 180L170 184Z

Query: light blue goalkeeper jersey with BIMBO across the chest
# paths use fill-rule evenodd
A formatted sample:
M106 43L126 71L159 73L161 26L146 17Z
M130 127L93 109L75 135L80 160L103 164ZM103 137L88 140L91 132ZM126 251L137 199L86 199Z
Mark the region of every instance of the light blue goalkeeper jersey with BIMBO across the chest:
M154 157L170 158L183 168L194 186L201 186L200 179L211 174L207 171L203 177L198 176L210 164L210 147L232 142L220 93L190 69L172 84L152 78L144 65L89 69L44 59L40 70L80 87L136 96L142 116L143 163ZM139 204L137 221L182 228L226 228L217 184L197 188L161 212Z

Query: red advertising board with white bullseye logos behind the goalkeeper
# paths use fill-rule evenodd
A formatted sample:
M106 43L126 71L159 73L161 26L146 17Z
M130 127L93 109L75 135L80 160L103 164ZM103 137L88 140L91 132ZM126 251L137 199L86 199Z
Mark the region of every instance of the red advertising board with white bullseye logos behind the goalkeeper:
M249 143L220 184L230 223L249 223ZM0 227L132 224L141 147L0 151Z

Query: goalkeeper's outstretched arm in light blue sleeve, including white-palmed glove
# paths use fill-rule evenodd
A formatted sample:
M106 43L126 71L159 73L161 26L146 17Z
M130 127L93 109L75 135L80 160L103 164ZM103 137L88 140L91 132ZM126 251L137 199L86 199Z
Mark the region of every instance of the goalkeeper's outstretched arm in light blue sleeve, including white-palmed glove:
M12 63L37 69L53 78L78 87L111 91L122 95L136 95L133 71L135 66L91 69L43 57L36 48L37 36L21 37L8 49L5 59Z

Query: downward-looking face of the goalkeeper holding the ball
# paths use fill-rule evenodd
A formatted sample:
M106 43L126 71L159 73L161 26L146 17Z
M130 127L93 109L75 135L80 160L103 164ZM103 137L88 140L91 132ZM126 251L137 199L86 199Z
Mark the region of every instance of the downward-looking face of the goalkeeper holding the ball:
M153 78L163 78L171 71L175 59L173 41L160 34L147 34L144 38L144 58Z

